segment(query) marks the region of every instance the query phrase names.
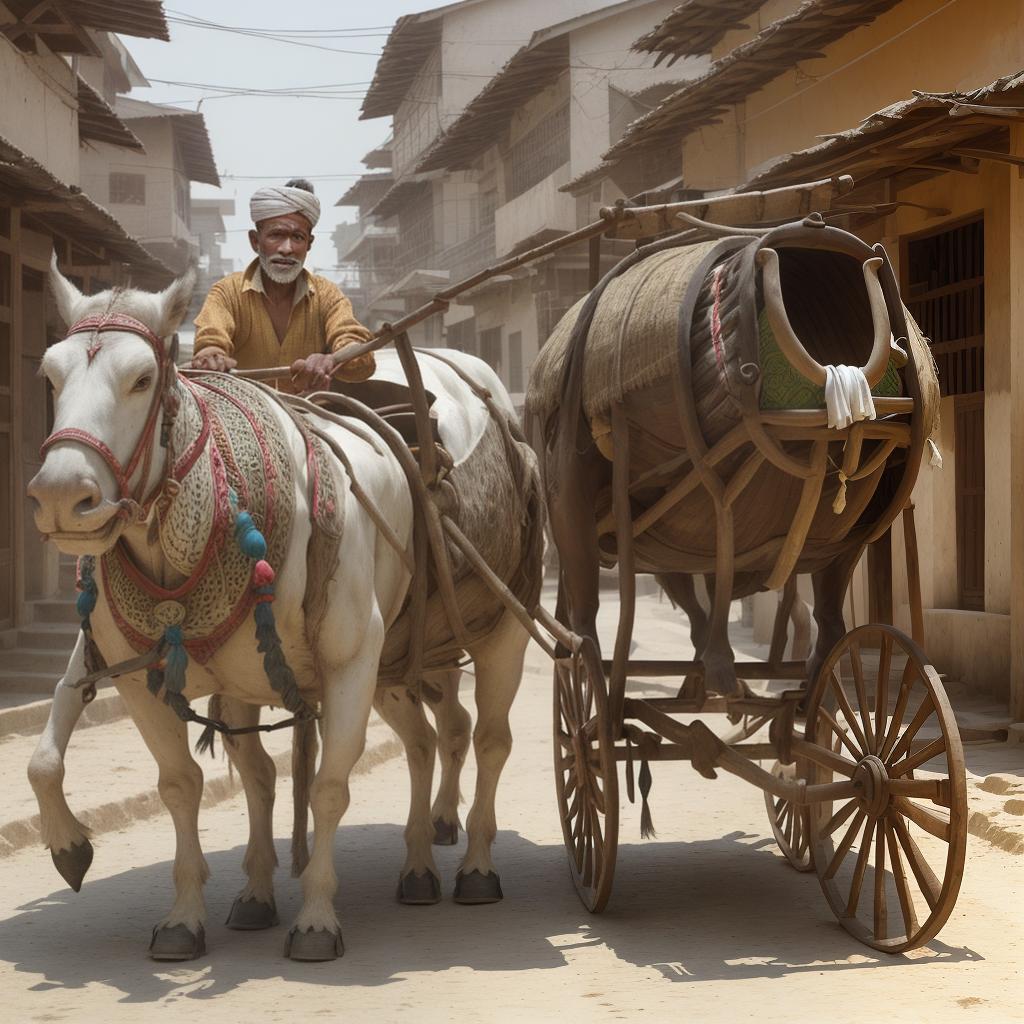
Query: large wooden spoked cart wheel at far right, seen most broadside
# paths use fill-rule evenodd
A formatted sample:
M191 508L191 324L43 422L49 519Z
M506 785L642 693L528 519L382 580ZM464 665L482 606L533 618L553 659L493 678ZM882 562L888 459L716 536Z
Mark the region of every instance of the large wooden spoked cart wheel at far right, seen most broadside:
M829 906L874 949L924 945L952 911L967 850L964 749L938 674L898 630L853 630L821 667L806 739L809 783L859 791L810 808Z

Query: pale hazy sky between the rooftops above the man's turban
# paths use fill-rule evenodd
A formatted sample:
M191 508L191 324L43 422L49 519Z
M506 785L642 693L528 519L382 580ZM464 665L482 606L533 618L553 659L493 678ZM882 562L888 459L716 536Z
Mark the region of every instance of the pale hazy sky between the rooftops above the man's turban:
M372 3L284 4L248 0L165 0L171 41L122 37L142 74L153 83L132 97L173 103L206 118L223 187L193 183L194 196L233 198L237 215L227 221L225 255L241 269L252 258L249 197L262 184L309 177L323 208L307 266L331 270L337 254L331 232L339 220L355 220L353 208L335 203L365 170L360 158L383 142L390 118L359 121L359 108L388 31L402 14L439 6L441 0L373 0ZM294 20L289 12L294 11ZM294 34L302 45L237 32L181 24L201 18L260 32ZM356 52L330 52L332 50ZM163 80L157 82L156 80ZM191 88L176 83L198 83ZM244 89L307 89L340 86L332 98L228 96L217 86ZM214 88L209 88L213 86ZM344 93L339 96L338 93Z

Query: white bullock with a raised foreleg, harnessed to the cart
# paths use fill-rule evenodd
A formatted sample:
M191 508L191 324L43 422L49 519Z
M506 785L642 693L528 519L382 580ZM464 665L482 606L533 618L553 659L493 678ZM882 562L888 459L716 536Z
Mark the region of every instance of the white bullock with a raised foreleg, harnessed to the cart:
M197 437L188 436L188 431L195 434L203 420L197 408L197 389L182 383L169 359L168 339L184 316L193 280L186 276L155 295L123 290L85 297L55 265L51 279L65 322L75 326L84 321L85 325L52 346L43 360L43 372L53 386L55 431L43 466L29 486L37 526L61 551L79 556L98 560L118 546L119 557L135 570L167 593L176 593L175 588L187 582L184 569L196 564L196 553L209 539L209 515L226 514L217 507L223 496L211 495L209 484L197 484L194 479L175 487L166 484L168 450L161 446L161 427L165 419L171 419L168 410L176 410L177 415L164 439L177 456L196 443ZM106 319L97 328L95 317ZM487 388L509 417L514 416L501 383L485 365L461 353L445 354ZM379 376L403 381L393 352L380 352L378 359ZM441 439L458 466L487 428L488 414L450 367L434 359L421 359L421 365L426 386L437 396L433 408ZM395 690L377 685L385 635L410 588L414 507L407 478L386 445L365 428L328 427L344 449L352 475L394 536L389 543L382 535L365 506L353 498L346 469L332 459L331 475L334 493L342 503L339 519L343 528L337 564L324 573L329 587L326 617L316 635L307 638L303 611L310 539L307 449L292 418L280 406L262 398L254 385L239 382L236 386L252 388L253 403L262 401L272 410L272 422L264 424L273 435L268 444L279 458L290 462L288 467L279 467L289 470L283 478L294 481L294 494L286 496L294 502L294 511L289 536L280 540L283 557L273 566L272 607L282 650L294 670L298 688L307 700L321 701L322 711L323 751L309 790L313 845L301 876L302 908L289 933L286 952L294 959L330 959L343 951L333 903L337 889L335 831L348 807L349 773L364 749L371 708L376 703L401 737L410 762L408 855L399 880L403 902L439 899L439 874L431 844L454 842L457 835L458 769L469 741L468 722L458 705L458 672L437 674L432 682L443 695L436 710L443 770L441 788L431 808L438 744L423 703L403 690L396 697ZM162 390L172 395L170 403ZM207 445L216 442L215 433L206 440ZM207 455L204 450L199 458ZM184 537L185 550L171 552L164 543L164 522L159 517L174 514L175 503L193 501L203 504L209 514L206 518L193 515L188 521L195 520L195 536L179 531L178 546ZM183 510L187 514L191 511ZM406 547L404 552L396 550L395 537ZM98 594L91 627L99 653L110 666L138 657L139 645L125 636L124 623L112 609L105 575L98 566L95 582ZM260 706L281 703L257 652L252 622L250 614L208 658L201 662L194 657L187 668L184 696L195 700L217 694L222 717L231 726L252 725L258 720ZM506 614L485 639L469 649L476 677L478 714L473 743L477 783L467 819L468 847L456 882L459 902L501 898L490 857L496 835L495 793L511 748L508 713L519 684L526 639L522 627ZM83 702L81 691L72 687L85 673L86 644L80 635L55 689L49 722L29 769L39 802L43 841L75 889L92 860L92 847L63 797L63 756ZM198 830L203 773L189 751L185 724L147 691L145 672L121 676L116 685L157 761L159 792L176 833L176 899L154 930L151 953L161 959L191 958L205 951L203 886L209 872ZM234 737L225 746L244 783L250 813L244 862L248 884L236 900L228 923L240 929L269 927L276 923L273 763L256 734Z

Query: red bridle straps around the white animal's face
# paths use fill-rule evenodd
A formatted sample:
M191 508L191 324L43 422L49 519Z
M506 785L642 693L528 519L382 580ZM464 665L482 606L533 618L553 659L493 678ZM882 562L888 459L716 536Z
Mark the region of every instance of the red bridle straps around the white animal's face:
M146 341L153 349L154 355L157 357L158 379L157 386L153 392L153 400L150 403L150 411L145 418L145 425L142 427L138 441L136 441L132 454L124 466L121 465L108 444L93 434L90 434L87 430L77 427L66 427L61 430L55 430L43 441L39 453L45 457L49 449L60 441L73 441L92 449L114 473L118 488L121 492L121 500L132 501L144 507L143 499L145 496L143 488L145 487L146 477L150 475L150 465L153 459L153 438L157 429L157 419L160 416L161 408L168 404L167 398L174 381L173 355L167 352L163 340L150 327L134 316L129 316L127 313L100 313L94 316L86 316L72 326L65 340L71 338L73 335L83 334L87 331L95 334L108 331L134 334ZM138 469L139 463L142 464L142 475L136 485L136 493L133 494L131 478L135 470ZM171 467L168 466L167 473L170 473L170 471ZM156 489L158 492L161 485L157 486Z

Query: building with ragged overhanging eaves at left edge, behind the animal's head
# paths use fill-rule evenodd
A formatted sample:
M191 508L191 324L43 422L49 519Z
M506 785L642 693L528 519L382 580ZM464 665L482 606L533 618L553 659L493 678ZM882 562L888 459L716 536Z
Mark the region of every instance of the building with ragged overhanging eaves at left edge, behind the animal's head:
M26 497L52 424L38 369L65 328L46 285L51 257L85 292L172 278L86 185L98 152L130 162L143 151L113 109L141 84L113 33L166 40L161 4L0 3L0 702L51 691L77 629L58 625L73 613L73 566L39 542Z

